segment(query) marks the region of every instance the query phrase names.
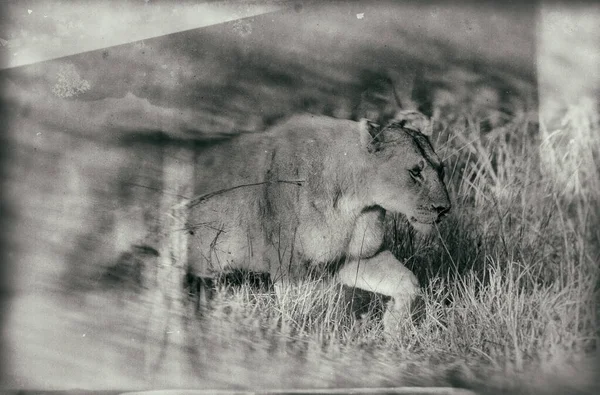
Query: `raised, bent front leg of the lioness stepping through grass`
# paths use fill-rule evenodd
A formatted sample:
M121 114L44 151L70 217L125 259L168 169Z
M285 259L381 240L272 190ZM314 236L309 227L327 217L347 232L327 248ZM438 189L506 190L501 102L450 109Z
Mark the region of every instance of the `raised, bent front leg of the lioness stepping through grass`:
M412 318L419 302L417 277L398 261L390 251L367 258L348 261L338 272L339 280L348 286L390 296L383 316L387 332Z

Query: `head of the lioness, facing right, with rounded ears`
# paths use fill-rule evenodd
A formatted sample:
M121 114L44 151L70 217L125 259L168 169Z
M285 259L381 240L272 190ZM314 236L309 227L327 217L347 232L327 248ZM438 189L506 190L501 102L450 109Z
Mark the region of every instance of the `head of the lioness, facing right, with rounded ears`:
M450 210L444 165L429 142L427 118L401 115L383 128L360 123L372 166L369 190L375 205L406 215L415 229L427 232Z

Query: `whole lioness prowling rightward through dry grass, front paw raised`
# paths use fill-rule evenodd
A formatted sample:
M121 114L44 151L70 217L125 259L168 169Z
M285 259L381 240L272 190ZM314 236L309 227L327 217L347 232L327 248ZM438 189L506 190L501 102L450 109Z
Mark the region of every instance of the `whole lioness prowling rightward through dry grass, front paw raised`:
M242 268L281 284L305 264L338 261L342 283L392 297L385 326L405 318L419 285L382 250L385 213L423 230L450 209L427 125L410 111L383 128L299 115L202 151L187 213L191 272Z

